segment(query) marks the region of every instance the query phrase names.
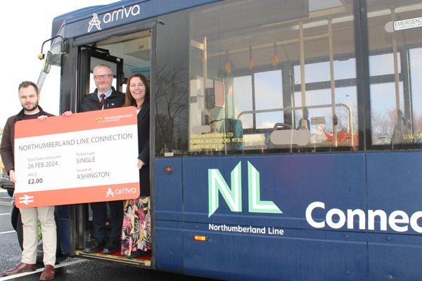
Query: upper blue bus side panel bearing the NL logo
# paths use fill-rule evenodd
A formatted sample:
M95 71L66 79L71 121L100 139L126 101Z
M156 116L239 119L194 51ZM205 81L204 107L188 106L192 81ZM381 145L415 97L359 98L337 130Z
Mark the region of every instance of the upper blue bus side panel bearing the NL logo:
M209 214L210 172L218 170L230 188L231 173L241 165L241 211L231 211L219 195L219 207ZM250 166L252 167L250 167ZM312 202L323 202L326 210L366 206L365 162L363 153L335 155L285 155L184 158L184 221L204 223L265 223L265 226L310 228L305 211ZM248 169L255 168L260 200L271 201L283 214L270 211L250 211L252 198ZM231 187L233 188L233 187ZM219 192L221 194L221 192ZM312 216L324 220L326 210L317 208ZM324 215L324 216L323 216ZM223 219L219 218L220 216ZM325 226L323 229L332 230ZM357 230L357 225L354 230Z

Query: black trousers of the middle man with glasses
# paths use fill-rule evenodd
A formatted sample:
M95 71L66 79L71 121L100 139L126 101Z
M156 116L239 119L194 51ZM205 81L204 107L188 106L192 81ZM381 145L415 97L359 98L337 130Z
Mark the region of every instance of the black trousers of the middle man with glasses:
M106 240L108 237L120 239L123 224L123 201L110 201L111 218L108 226L111 228L107 235L107 202L91 203L92 222L94 223L94 237Z

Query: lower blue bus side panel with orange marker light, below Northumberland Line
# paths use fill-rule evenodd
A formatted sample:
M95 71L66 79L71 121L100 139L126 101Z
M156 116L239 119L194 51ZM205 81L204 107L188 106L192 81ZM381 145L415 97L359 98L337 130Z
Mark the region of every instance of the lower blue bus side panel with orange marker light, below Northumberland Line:
M290 237L257 237L198 231L196 226L208 227L184 223L184 273L188 275L223 280L366 279L366 233L284 228ZM193 235L209 240L194 241Z

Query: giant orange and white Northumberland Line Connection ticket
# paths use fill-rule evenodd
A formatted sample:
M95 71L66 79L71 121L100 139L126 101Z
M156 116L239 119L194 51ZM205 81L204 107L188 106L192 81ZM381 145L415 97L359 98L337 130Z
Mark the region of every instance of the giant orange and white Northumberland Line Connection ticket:
M19 208L129 200L139 196L135 107L15 124Z

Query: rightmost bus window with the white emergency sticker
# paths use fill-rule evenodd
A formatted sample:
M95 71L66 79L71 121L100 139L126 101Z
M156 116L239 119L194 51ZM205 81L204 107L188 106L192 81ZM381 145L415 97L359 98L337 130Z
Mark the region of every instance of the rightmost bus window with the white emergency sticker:
M406 0L378 6L369 4L368 12L372 149L417 148L420 140L411 136L421 130L421 30L387 26L420 16L421 6Z

